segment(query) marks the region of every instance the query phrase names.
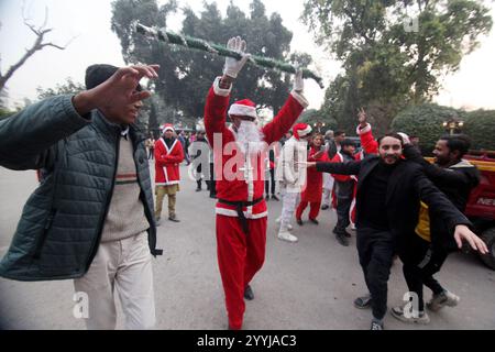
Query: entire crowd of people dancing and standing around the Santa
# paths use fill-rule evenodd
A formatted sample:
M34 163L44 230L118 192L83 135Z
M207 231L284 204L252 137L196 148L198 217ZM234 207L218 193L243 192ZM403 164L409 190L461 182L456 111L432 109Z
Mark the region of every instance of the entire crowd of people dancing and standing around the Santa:
M87 90L48 98L0 122L0 165L43 169L44 175L23 209L0 275L74 279L75 289L90 298L88 329L116 328L117 290L125 327L152 328L152 256L162 254L156 227L165 196L168 220L180 221L176 197L185 162L190 163L196 190L206 182L217 199L217 256L229 329L242 328L244 300L255 297L251 282L265 261L266 201L278 201L277 195L277 237L283 241L297 242L293 221L304 226L308 206L308 221L315 226L320 209L336 209L333 233L341 245L349 245L349 228L356 229L369 293L354 305L372 309L372 330L384 328L395 255L418 297L413 311L394 307L395 318L428 323L425 306L431 311L455 306L459 297L433 275L462 242L487 252L463 215L480 182L476 168L462 158L469 140L441 138L436 162L429 164L405 134L376 140L364 110L358 112L360 150L342 131L314 133L297 121L308 106L301 70L273 121L258 125L255 102L229 105L235 79L250 59L246 43L232 37L227 47L239 58L228 57L215 78L205 101L205 129L193 139L165 124L155 141L134 124L142 100L151 95L140 80L157 78L156 65L90 66ZM148 160L154 161L155 199ZM426 305L424 285L433 294Z

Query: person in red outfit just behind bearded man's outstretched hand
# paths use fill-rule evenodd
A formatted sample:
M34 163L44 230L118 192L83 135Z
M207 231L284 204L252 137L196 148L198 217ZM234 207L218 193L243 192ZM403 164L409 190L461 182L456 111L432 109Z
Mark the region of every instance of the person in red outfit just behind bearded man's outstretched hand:
M328 162L323 146L323 136L316 134L311 140L308 162ZM314 168L309 168L306 176L306 187L300 195L300 202L296 210L296 221L302 226L302 212L309 204L309 221L318 224L318 213L320 212L321 195L323 188L323 175Z

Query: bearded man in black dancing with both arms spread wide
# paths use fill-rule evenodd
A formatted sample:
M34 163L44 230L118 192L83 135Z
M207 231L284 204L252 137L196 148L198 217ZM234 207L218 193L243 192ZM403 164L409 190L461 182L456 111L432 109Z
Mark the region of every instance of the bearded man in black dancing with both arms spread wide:
M378 153L360 162L307 163L319 172L358 175L358 252L372 297L372 330L383 329L392 260L405 238L414 233L420 199L454 233L458 245L468 240L474 249L487 252L484 242L468 228L471 222L431 184L421 167L402 158L403 140L398 134L381 138Z

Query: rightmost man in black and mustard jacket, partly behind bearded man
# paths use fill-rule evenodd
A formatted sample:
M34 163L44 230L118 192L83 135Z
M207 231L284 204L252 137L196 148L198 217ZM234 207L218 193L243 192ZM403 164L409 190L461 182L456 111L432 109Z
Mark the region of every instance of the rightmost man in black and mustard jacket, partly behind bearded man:
M424 167L428 178L449 198L462 212L465 210L470 193L480 184L480 173L476 167L463 160L470 147L465 135L447 135L441 138L433 150L435 164L422 158L419 150L406 143L404 155ZM409 292L418 296L418 314L407 314L404 307L395 307L392 315L405 322L428 323L425 312L422 285L429 287L432 299L427 307L437 311L444 306L457 306L460 298L444 289L435 278L449 253L457 249L455 242L439 221L438 217L430 217L428 206L421 202L419 221L415 229L416 235L407 238L407 251L399 253L404 263L403 271Z

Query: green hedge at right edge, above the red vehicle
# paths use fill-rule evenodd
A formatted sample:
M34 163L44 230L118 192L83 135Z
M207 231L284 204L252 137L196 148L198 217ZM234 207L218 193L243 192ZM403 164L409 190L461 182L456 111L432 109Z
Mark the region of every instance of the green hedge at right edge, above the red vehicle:
M463 132L471 138L471 148L495 151L495 110L468 112Z

